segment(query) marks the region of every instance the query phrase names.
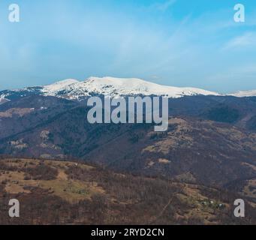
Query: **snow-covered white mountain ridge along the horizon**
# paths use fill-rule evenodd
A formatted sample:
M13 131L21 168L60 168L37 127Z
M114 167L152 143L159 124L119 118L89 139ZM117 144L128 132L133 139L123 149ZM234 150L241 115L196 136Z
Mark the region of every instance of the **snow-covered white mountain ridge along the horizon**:
M83 82L68 79L47 86L35 86L25 89L0 91L0 103L27 95L44 95L72 100L83 100L84 98L94 95L105 95L111 98L137 95L182 98L184 96L218 96L220 94L203 89L162 86L136 78L89 77ZM256 91L239 92L231 96L251 97L256 96Z

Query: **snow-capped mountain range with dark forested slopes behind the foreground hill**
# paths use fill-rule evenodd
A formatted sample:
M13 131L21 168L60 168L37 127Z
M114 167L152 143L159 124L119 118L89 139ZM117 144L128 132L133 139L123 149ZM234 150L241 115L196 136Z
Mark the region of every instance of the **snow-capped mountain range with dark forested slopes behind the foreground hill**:
M153 124L89 124L84 100L95 95L168 96L169 128L155 133ZM122 174L229 190L256 206L253 92L220 95L93 77L0 96L2 156L82 160Z

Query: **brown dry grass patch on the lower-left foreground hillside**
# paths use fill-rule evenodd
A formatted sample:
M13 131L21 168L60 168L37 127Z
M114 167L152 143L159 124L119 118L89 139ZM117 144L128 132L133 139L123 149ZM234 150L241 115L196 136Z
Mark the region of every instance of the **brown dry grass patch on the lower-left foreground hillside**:
M95 182L78 181L68 179L65 170L71 166L80 167L90 171L92 166L79 163L45 160L44 164L58 170L56 179L46 180L24 180L26 172L24 166L34 167L41 163L40 160L5 160L5 165L16 167L18 171L5 171L0 175L0 181L6 181L5 190L8 193L29 193L28 187L41 187L53 195L60 196L68 202L74 203L84 199L91 199L97 193L104 193L102 187ZM8 173L7 173L8 172Z

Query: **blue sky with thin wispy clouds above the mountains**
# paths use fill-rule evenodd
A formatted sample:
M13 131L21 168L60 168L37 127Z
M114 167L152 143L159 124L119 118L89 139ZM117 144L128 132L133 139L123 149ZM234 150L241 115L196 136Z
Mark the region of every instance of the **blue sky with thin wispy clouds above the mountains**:
M0 89L91 76L256 89L254 0L16 0L9 23L12 3L0 1Z

